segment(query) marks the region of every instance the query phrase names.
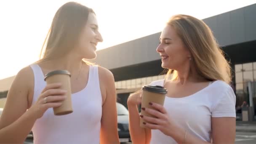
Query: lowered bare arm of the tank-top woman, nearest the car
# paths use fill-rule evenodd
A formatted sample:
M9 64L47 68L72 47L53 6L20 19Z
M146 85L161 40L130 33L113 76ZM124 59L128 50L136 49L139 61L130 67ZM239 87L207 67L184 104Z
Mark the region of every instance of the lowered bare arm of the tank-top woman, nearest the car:
M115 80L112 73L104 68L99 67L100 80L103 82L105 100L102 106L101 117L101 144L119 144L117 132L117 108L116 108L116 91Z

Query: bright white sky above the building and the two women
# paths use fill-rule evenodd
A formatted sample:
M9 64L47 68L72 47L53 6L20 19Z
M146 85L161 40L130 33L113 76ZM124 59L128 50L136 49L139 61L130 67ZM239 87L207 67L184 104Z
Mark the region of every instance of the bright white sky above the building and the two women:
M0 1L0 80L39 59L58 8L69 0ZM256 0L77 0L96 13L104 41L98 50L160 32L175 14L205 19Z

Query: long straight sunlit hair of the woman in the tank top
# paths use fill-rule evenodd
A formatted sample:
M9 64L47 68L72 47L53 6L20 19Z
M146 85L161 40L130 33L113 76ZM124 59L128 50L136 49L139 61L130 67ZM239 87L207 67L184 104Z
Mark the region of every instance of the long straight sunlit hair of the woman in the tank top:
M94 11L79 3L68 2L62 5L53 17L37 62L58 58L72 51L78 43L89 13Z

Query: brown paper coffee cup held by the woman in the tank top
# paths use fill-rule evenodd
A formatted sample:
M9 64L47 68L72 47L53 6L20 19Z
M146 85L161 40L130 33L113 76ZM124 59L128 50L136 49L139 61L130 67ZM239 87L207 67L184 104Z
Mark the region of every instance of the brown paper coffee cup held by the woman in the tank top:
M61 88L63 90L67 90L66 96L67 98L62 101L60 107L54 107L53 112L54 115L67 115L73 112L72 108L72 100L71 100L71 85L70 85L70 72L67 70L56 70L52 72L48 72L45 75L44 80L47 84L51 83L61 83Z

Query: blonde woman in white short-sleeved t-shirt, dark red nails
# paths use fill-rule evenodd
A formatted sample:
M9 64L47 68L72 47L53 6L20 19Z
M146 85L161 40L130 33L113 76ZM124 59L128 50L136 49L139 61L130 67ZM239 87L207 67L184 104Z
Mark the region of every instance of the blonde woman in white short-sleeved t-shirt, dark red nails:
M141 92L129 96L130 133L133 144L231 144L235 142L235 94L229 63L211 29L187 15L173 16L163 29L157 53L171 79L157 80L168 90L163 106L141 109ZM139 127L144 119L147 128ZM154 123L154 124L150 124Z

